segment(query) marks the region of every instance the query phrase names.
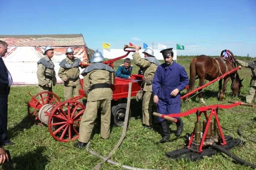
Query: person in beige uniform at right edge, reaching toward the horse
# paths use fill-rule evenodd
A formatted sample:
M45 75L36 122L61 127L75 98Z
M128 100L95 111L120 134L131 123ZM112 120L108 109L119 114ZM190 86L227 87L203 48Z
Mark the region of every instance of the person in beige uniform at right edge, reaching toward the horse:
M241 66L244 66L246 68L250 68L252 71L252 79L250 82L250 88L249 88L249 93L247 94L245 98L246 103L252 103L253 98L254 102L256 102L256 61L251 61L251 62L243 62L239 59L236 60Z

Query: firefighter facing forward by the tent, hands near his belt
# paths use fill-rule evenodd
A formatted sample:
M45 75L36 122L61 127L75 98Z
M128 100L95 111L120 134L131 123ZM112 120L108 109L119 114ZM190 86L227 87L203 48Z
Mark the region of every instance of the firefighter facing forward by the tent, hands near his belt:
M60 62L59 77L64 81L64 100L78 96L80 85L80 62L79 58L74 57L74 51L69 47L66 50L67 57ZM82 102L82 98L78 100Z

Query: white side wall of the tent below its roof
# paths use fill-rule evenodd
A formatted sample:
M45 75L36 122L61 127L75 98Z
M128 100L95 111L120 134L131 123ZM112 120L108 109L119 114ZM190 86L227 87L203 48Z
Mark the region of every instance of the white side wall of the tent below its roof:
M54 56L52 61L55 65L57 82L61 79L58 76L59 63L65 59L65 50L67 47L53 47ZM75 57L84 60L85 47L73 46ZM38 84L37 80L37 62L43 55L44 47L8 47L8 53L3 57L4 63L12 75L14 84ZM80 70L82 71L82 70ZM81 76L82 78L82 76Z

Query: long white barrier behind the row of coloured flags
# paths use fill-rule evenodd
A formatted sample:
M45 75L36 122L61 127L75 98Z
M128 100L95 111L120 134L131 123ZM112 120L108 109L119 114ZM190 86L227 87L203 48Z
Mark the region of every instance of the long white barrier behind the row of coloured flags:
M144 58L144 54L142 53L145 49L139 50L140 56ZM154 56L158 60L163 60L163 55L160 53L161 50L153 50L154 51ZM103 49L103 56L108 59L113 59L116 57L120 57L122 55L125 55L127 52L124 51L124 49ZM132 54L131 52L127 57L132 59ZM177 60L177 50L173 50L173 60Z

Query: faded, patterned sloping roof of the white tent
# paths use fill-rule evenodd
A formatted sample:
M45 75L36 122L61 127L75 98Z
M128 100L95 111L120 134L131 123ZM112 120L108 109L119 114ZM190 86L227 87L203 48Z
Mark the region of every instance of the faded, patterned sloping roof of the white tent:
M0 35L8 46L86 46L82 34Z

